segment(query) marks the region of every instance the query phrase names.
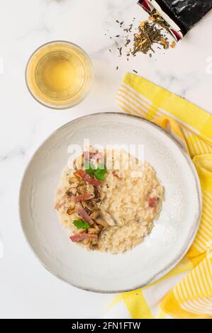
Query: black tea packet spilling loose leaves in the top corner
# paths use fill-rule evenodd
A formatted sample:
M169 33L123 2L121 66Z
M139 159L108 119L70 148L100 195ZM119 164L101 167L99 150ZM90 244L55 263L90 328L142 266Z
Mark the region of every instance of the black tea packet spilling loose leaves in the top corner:
M139 0L138 4L148 13L153 10L160 13L177 40L212 9L212 0Z

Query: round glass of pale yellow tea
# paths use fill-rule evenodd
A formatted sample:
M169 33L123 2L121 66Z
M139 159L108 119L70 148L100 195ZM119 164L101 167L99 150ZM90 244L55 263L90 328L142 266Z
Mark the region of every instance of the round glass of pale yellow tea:
M42 45L26 66L30 94L49 108L77 105L89 94L93 81L93 65L87 53L65 41Z

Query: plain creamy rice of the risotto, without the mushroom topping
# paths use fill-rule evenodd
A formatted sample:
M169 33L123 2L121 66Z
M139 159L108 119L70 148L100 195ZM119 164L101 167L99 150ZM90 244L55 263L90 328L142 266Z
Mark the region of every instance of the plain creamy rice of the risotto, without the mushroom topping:
M115 153L114 150L107 151L107 156L114 156ZM138 162L138 159L124 151L121 151L118 169L113 169L115 166L111 160L112 169L107 170L106 179L100 186L98 209L108 227L104 227L99 235L98 249L118 254L140 244L151 232L162 208L164 188L149 163ZM74 227L73 221L79 219L79 215L67 214L69 202L65 199L70 186L69 178L73 174L74 170L70 169L62 173L56 205L61 224L69 228L72 234L77 234L79 230ZM91 191L89 184L87 191Z

